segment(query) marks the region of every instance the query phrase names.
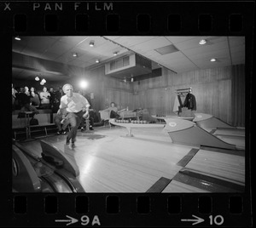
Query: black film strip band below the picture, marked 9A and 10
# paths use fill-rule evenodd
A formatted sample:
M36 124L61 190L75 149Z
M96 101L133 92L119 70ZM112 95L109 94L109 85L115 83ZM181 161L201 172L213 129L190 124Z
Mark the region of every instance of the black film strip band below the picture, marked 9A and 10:
M250 226L247 198L207 194L18 194L11 225Z

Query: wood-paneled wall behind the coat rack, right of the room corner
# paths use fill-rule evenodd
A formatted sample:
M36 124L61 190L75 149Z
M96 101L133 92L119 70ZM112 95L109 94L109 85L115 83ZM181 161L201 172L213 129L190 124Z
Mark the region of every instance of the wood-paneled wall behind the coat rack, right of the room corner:
M137 106L151 114L172 115L177 88L192 88L197 112L204 112L231 123L231 67L175 74L163 69L161 77L137 82Z

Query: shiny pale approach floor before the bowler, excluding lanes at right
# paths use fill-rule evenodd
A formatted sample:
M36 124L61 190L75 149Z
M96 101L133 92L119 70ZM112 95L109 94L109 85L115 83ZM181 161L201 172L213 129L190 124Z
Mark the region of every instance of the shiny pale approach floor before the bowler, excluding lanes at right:
M126 137L125 128L96 128L92 133L78 132L76 147L65 145L66 135L48 140L73 157L79 166L79 182L86 192L146 192L161 177L172 180L182 168L177 165L191 147L172 145L166 133L134 129ZM24 143L33 151L39 141Z

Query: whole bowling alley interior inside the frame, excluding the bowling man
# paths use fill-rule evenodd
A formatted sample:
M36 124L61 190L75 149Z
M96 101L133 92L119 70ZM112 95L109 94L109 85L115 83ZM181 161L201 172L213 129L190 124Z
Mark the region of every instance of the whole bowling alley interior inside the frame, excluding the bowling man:
M12 191L242 193L246 83L245 37L13 37Z

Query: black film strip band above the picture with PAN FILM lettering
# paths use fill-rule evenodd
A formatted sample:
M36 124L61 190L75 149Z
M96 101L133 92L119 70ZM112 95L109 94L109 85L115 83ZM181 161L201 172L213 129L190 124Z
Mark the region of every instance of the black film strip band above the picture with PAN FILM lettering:
M252 2L5 2L4 32L39 35L234 35L253 29Z

